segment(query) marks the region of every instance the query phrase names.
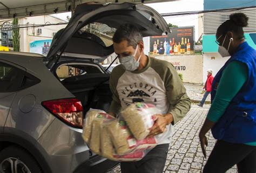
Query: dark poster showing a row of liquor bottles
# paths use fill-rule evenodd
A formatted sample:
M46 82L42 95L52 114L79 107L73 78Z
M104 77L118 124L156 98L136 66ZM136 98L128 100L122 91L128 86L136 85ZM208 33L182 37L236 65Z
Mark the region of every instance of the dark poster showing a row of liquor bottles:
M194 54L194 27L171 28L164 36L150 37L150 54L153 56Z

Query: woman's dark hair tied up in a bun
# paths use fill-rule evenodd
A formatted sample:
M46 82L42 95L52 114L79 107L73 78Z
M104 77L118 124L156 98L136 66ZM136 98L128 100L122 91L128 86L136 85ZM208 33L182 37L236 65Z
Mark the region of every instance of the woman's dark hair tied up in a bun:
M244 30L242 27L248 25L248 17L244 13L233 13L230 15L230 19L221 24L217 30L219 34L226 34L228 31L232 31L237 34L239 39L244 38Z

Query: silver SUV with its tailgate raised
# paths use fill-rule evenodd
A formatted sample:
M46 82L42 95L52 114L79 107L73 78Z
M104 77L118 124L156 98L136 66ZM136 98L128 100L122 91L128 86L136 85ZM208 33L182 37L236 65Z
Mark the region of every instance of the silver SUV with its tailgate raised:
M143 36L169 31L148 6L81 4L48 56L0 53L1 173L100 173L118 164L92 153L81 134L87 110L109 108L109 73L99 63L113 53L113 28L124 23Z

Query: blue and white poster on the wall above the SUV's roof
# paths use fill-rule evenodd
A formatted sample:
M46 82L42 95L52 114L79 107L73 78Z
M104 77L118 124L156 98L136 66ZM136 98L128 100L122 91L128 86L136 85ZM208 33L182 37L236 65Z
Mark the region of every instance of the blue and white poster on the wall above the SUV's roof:
M36 40L29 44L29 52L39 53L46 56L50 50L51 39L49 40Z

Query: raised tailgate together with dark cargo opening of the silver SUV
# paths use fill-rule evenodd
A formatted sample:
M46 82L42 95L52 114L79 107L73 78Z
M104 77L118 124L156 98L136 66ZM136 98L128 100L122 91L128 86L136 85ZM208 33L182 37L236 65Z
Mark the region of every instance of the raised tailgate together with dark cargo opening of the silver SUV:
M54 73L60 62L68 60L100 63L114 52L112 44L104 43L100 34L84 32L83 28L92 23L101 23L113 29L122 24L133 24L142 32L143 37L159 36L170 31L163 17L149 6L133 3L81 4L77 6L68 26L52 40L45 58L49 70ZM85 113L90 108L109 109L112 101L109 73L78 75L61 82L82 101Z

